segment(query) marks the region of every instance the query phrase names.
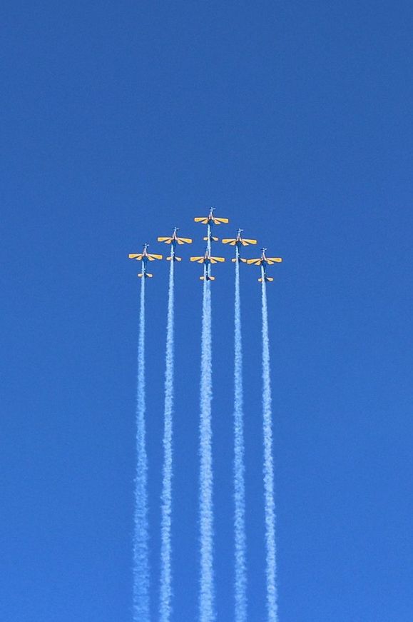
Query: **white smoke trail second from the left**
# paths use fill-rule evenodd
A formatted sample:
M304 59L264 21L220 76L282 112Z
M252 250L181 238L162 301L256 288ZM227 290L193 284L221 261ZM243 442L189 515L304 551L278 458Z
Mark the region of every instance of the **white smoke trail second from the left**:
M174 311L174 264L173 248L170 249L168 319L166 326L165 355L165 411L163 429L163 483L160 498L162 518L160 523L160 622L169 622L172 613L172 572L170 526L172 515L172 436L173 436L173 311Z

